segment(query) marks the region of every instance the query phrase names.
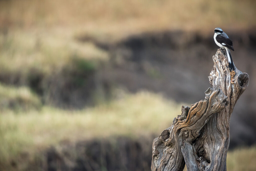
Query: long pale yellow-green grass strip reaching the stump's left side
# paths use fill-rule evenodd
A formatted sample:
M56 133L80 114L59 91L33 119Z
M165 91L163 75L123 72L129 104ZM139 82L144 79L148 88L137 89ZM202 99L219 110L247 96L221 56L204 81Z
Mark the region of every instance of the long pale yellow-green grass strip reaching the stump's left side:
M6 111L0 115L0 165L8 165L24 152L33 156L63 140L159 134L172 124L180 109L159 94L140 92L79 111L49 107L26 113Z

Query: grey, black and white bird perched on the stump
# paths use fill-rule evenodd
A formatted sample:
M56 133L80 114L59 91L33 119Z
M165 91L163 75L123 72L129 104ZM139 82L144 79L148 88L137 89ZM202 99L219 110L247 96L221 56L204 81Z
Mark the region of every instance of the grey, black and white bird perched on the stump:
M219 27L214 29L214 41L221 48L226 49L228 56L229 69L235 70L235 66L231 57L230 49L234 51L233 42L229 39L228 35L223 32Z

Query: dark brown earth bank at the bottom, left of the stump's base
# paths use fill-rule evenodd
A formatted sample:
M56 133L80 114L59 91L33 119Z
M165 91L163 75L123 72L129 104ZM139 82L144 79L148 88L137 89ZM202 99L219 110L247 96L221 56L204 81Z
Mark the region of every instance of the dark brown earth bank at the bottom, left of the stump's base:
M81 141L49 148L25 170L150 170L152 142L117 137L114 140Z

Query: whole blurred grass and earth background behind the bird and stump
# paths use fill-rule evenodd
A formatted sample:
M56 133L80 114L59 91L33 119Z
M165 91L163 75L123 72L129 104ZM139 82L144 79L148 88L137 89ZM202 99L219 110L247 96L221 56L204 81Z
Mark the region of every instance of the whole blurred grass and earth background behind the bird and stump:
M0 170L150 170L152 141L204 99L218 46L250 76L227 170L256 168L256 1L1 0Z

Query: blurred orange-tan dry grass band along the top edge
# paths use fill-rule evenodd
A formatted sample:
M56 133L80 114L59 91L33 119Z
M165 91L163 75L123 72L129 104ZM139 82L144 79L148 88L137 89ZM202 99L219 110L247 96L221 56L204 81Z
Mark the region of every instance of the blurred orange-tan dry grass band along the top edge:
M221 4L221 5L219 5ZM82 30L114 36L162 29L255 26L255 1L1 1L2 27Z

